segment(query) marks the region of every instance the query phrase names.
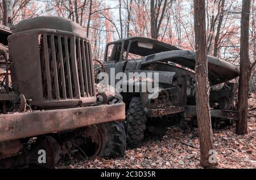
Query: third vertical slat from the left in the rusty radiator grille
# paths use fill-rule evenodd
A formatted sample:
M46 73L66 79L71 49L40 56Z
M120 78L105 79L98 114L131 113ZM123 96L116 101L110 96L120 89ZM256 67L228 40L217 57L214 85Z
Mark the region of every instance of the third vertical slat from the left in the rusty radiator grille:
M67 98L67 92L66 92L64 63L63 63L63 52L62 52L62 44L61 44L61 37L60 36L58 36L58 48L59 48L59 62L60 62L62 93L63 93L63 98L66 99Z

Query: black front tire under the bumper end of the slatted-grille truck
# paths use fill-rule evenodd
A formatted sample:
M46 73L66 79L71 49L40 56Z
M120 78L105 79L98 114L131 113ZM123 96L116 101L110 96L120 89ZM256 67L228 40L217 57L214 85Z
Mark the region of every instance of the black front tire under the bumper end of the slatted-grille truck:
M104 137L107 140L100 156L108 158L123 157L126 149L126 134L123 123L114 121L105 123L104 126L107 131L104 134L108 137Z

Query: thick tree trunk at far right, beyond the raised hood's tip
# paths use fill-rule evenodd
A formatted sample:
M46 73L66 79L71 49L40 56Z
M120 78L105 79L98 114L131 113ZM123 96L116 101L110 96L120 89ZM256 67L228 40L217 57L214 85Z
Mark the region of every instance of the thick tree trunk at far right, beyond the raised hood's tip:
M241 16L241 48L240 48L240 76L238 87L237 111L238 119L236 123L236 134L247 134L247 108L250 78L250 59L249 59L249 19L250 19L250 0L242 2Z

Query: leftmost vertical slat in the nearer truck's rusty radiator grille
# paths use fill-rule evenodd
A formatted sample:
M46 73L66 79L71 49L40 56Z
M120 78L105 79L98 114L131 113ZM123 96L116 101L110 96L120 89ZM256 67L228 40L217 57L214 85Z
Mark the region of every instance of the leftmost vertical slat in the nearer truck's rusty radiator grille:
M49 68L49 50L48 50L48 40L47 40L47 34L43 35L43 46L44 46L44 62L46 65L46 79L47 79L47 93L48 93L48 99L52 100L52 88L51 88L51 74L50 74L50 68Z

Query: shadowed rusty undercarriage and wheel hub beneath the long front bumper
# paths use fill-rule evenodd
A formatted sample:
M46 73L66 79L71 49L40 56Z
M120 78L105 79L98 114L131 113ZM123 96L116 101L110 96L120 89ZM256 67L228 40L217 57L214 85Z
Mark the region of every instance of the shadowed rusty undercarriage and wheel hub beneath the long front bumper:
M104 153L109 141L109 131L105 124L76 128L23 140L0 142L0 169L27 166L52 168L61 157L88 159ZM23 148L29 146L30 148ZM46 162L38 161L40 150L46 151Z

